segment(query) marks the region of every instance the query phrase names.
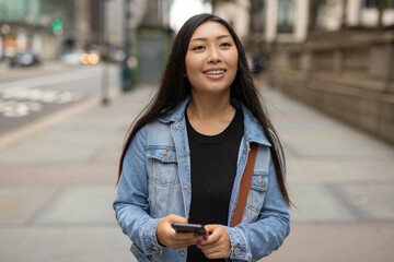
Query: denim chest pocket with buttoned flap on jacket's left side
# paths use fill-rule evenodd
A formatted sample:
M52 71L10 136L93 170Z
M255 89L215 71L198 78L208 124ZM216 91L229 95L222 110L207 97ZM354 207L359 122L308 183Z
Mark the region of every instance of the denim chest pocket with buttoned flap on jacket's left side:
M148 148L148 172L151 181L160 187L179 183L176 152L173 148Z

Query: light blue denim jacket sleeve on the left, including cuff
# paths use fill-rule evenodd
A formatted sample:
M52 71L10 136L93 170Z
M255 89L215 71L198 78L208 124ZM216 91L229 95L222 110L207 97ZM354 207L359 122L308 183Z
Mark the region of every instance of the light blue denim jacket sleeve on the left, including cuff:
M127 150L113 207L123 233L150 255L161 253L162 248L155 235L159 218L149 215L146 136L147 129L141 129Z

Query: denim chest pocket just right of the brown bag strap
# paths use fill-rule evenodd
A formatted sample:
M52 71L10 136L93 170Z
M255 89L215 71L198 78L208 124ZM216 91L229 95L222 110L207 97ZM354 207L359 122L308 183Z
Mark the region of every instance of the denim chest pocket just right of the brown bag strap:
M267 190L268 175L258 172L253 174L244 214L244 218L247 219L247 223L253 223L257 219L257 216L262 211Z

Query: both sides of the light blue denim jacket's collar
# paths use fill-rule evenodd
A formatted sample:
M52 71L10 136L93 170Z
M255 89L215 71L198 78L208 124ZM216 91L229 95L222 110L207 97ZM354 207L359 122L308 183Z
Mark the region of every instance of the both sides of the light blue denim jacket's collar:
M159 121L163 123L178 122L185 118L186 106L190 100L190 96L187 96L173 110L165 116L159 118ZM263 127L253 114L246 108L246 106L234 98L231 98L231 104L241 109L244 116L244 138L247 143L255 142L257 144L264 144L270 146L271 144L267 140L267 136L263 130Z

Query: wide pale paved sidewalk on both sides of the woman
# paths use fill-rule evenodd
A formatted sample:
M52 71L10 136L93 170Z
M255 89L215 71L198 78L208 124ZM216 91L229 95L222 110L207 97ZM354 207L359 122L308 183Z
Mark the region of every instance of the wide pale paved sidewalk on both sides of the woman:
M264 261L391 261L394 147L263 88L286 144L292 231ZM150 86L0 152L0 261L136 261L117 226L117 160Z

